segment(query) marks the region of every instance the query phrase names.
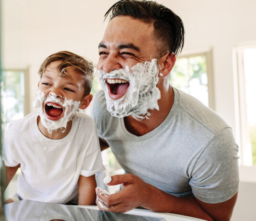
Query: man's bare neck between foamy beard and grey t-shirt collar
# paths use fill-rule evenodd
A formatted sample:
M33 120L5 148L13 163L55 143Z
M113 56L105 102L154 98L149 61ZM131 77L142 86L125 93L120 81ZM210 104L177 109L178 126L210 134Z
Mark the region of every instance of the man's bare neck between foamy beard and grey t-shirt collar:
M146 133L153 131L157 128L168 116L174 103L174 90L170 86L166 91L166 94L161 96L158 100L159 110L149 110L151 116L149 119L143 119L141 121L136 120L132 116L124 118L125 126L128 132L142 136Z

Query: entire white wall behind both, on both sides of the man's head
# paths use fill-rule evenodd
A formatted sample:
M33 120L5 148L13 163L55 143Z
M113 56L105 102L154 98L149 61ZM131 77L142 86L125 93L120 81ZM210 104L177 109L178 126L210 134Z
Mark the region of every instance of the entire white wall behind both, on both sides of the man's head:
M30 110L41 62L70 50L97 63L103 15L116 0L2 0L2 64L29 67ZM232 48L256 40L255 0L158 0L183 20L183 53L213 50L215 109L235 129Z

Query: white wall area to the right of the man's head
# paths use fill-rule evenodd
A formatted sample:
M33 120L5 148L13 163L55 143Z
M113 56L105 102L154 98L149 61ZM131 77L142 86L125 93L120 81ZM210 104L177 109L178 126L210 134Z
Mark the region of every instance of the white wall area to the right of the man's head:
M256 40L255 0L172 0L183 20L184 52L212 48L216 111L235 129L232 49Z

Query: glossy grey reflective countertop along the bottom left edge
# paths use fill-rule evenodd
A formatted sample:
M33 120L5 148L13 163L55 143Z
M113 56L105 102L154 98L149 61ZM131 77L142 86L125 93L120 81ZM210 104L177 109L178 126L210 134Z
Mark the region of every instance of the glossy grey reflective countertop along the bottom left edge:
M7 221L164 221L115 212L85 209L57 203L22 200L4 206Z

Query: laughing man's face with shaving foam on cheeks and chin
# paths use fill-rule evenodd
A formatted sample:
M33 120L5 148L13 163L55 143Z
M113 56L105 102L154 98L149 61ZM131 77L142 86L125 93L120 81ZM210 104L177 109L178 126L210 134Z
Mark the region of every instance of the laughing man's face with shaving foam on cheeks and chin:
M153 58L158 56L158 48L153 38L153 31L152 24L141 22L129 16L116 16L106 28L103 40L99 44L100 58L97 68L106 98L110 100L110 102L107 101L107 105L109 104L107 108L109 111L112 109L116 112L115 114L111 113L114 116L132 115L130 110L136 111L136 116L138 116L138 114L147 113L147 111L144 111L145 108L146 110L158 108L157 99L160 99L160 92L156 91L156 89L158 90L156 88L159 72L158 65L156 60L152 62L153 65L149 64ZM120 73L117 70L120 70ZM144 79L141 79L142 76ZM140 81L144 82L144 84L132 85L132 81ZM149 84L152 87L147 87ZM127 95L128 93L130 94ZM141 96L141 93L145 94ZM155 98L151 97L152 94ZM135 97L138 97L137 103L134 102L136 100ZM152 99L155 99L156 102L151 107L147 108L142 104L148 103ZM130 104L126 105L126 107L119 107L119 104L127 101ZM136 107L133 103L135 103ZM138 110L140 109L139 103L140 106L144 106L142 112ZM110 105L115 107L110 107ZM126 110L123 111L124 109ZM120 114L120 112L123 112L123 114Z

